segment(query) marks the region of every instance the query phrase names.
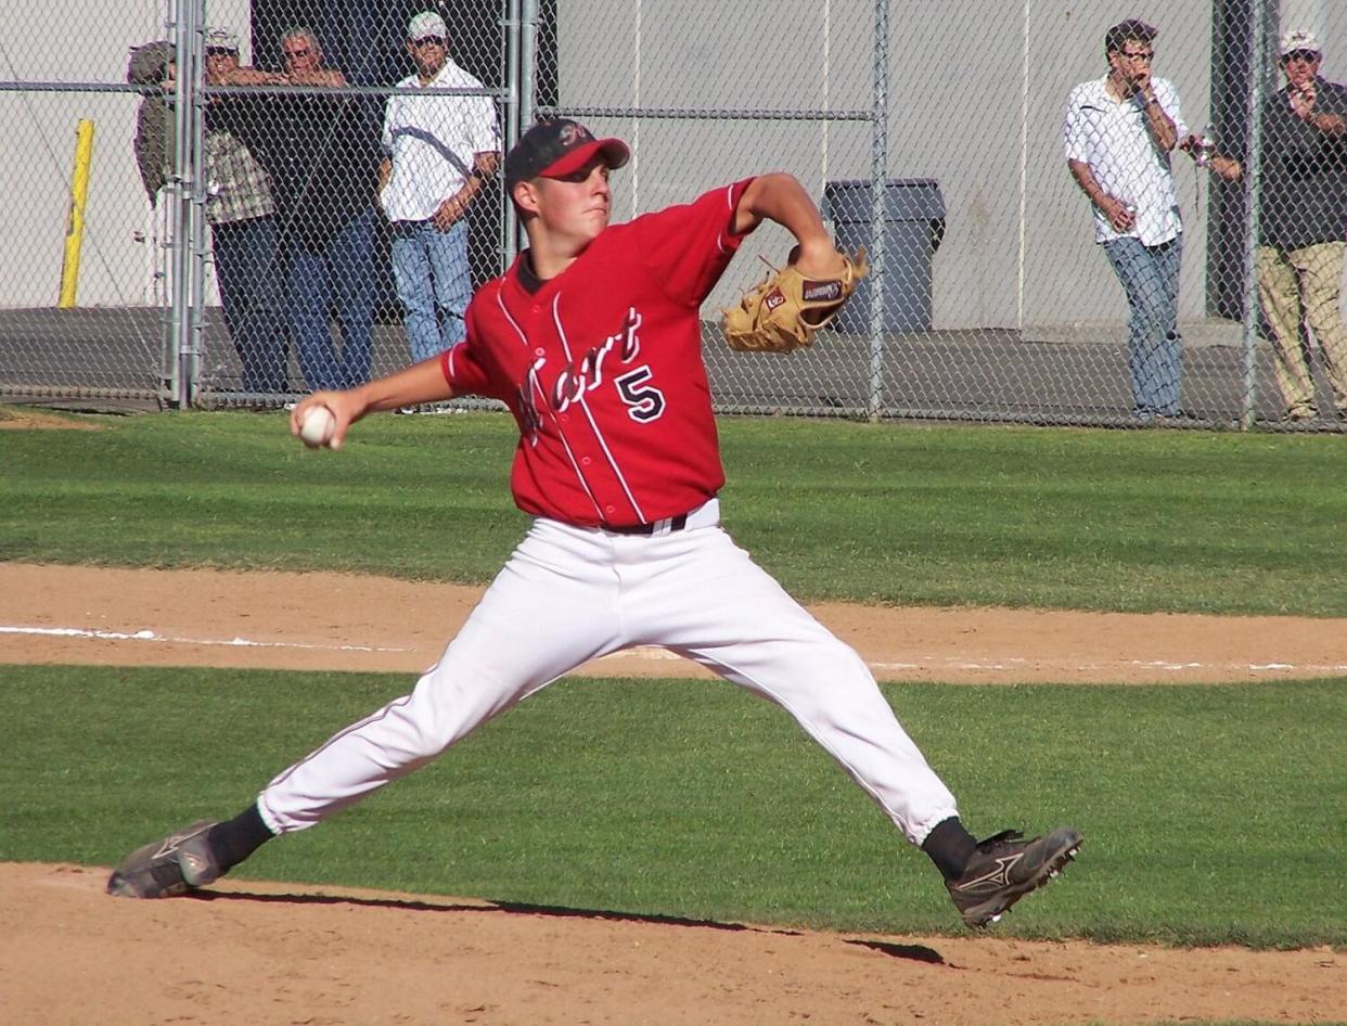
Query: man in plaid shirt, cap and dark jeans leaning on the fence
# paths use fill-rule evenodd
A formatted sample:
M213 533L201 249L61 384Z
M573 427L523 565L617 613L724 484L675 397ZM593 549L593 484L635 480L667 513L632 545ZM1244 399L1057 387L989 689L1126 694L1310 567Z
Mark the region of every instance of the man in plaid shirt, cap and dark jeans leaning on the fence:
M267 73L238 65L238 36L206 32L209 85L261 85ZM244 144L264 113L257 97L210 98L206 105L206 221L225 326L238 351L244 392L284 393L286 294L271 178Z

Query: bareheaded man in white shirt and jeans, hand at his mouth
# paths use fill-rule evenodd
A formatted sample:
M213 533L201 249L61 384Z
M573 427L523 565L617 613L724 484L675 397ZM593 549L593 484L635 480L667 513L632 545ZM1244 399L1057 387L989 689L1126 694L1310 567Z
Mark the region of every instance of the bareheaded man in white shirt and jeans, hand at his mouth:
M1067 98L1067 166L1094 205L1095 241L1127 295L1133 416L1179 416L1183 222L1169 153L1188 135L1179 93L1153 78L1160 31L1138 19L1105 35L1109 74Z

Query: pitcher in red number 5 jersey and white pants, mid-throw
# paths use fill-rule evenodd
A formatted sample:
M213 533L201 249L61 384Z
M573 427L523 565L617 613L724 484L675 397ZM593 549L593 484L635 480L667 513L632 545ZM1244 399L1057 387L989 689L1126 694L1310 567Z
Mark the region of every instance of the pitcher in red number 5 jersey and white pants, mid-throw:
M630 152L559 118L505 158L528 249L467 308L467 338L294 411L331 416L331 447L366 413L481 395L520 440L511 478L533 525L415 689L284 770L225 823L132 852L113 894L210 883L279 833L304 829L409 773L583 662L659 645L785 708L985 926L1075 856L1080 833L977 842L869 668L721 526L725 482L699 310L745 236L775 221L819 285L846 273L814 201L768 174L610 225L609 175ZM326 408L326 411L323 411Z

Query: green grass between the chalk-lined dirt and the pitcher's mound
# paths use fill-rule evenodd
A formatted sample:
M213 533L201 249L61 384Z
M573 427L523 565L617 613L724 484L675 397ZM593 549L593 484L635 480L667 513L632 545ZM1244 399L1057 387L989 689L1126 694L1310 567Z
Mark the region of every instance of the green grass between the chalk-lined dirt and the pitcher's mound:
M0 858L90 864L179 820L233 815L408 684L51 666L4 677ZM1080 863L998 933L1347 944L1342 681L886 693L973 829L1071 821L1086 833ZM927 859L784 712L706 681L559 683L322 828L265 846L236 875L695 920L959 929Z

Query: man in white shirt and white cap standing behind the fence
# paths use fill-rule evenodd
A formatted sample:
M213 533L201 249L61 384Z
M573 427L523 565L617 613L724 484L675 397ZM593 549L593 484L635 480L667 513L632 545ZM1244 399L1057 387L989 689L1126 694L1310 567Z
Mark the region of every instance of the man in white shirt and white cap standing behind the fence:
M397 83L384 112L379 198L392 222L393 280L412 362L463 338L471 299L466 213L500 162L489 96L416 96L423 89L484 89L449 59L449 28L434 11L407 26L416 74Z

